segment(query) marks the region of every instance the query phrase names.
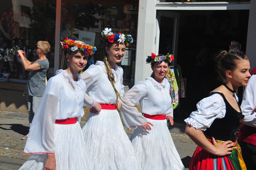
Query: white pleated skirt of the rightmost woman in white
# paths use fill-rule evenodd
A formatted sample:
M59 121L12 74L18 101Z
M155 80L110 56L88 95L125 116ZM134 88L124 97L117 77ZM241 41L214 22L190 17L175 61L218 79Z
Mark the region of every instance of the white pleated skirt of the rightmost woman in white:
M145 131L142 126L138 126L131 135L132 145L142 169L185 169L167 128L167 121L147 120L154 125L151 131Z

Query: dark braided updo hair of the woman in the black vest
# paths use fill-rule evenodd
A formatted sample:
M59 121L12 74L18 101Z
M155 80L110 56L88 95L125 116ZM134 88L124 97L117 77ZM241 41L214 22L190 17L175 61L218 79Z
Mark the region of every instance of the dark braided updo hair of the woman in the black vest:
M249 60L246 55L239 51L227 52L225 50L219 51L214 56L214 61L217 64L218 73L221 80L225 80L226 71L234 71L237 67L237 60Z

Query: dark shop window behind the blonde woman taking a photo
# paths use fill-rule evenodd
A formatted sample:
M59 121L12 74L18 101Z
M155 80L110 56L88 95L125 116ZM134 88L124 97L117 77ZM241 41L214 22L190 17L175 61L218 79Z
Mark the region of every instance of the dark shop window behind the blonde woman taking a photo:
M56 4L51 0L5 1L0 8L0 72L9 74L10 82L24 82L29 76L22 66L18 50L25 52L29 61L38 58L38 41L48 41L47 54L50 68L47 78L53 75Z

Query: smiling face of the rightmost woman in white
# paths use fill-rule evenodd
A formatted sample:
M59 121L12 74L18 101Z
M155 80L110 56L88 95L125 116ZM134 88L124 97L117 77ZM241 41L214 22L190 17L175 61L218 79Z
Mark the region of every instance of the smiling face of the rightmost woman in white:
M154 66L151 66L151 69L154 71L154 79L158 83L163 83L164 77L168 72L169 66L166 62L156 62Z

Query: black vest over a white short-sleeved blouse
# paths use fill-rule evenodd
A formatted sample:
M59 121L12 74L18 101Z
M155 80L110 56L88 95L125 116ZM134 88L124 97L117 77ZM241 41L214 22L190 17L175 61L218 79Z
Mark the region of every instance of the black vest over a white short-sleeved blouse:
M242 114L241 108L239 106L240 112L236 111L228 103L225 95L220 92L212 92L209 96L213 94L220 94L226 104L226 115L221 119L215 119L212 125L204 131L204 134L208 137L214 137L215 140L233 142L236 141L238 135L238 126L243 122L244 115Z

